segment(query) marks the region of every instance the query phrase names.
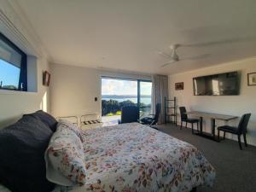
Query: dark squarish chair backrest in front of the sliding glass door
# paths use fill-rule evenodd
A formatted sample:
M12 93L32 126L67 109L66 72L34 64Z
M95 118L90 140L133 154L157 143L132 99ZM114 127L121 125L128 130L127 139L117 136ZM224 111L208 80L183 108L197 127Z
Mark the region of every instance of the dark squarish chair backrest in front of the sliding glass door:
M122 108L121 123L137 122L139 119L139 108L137 106L126 106Z

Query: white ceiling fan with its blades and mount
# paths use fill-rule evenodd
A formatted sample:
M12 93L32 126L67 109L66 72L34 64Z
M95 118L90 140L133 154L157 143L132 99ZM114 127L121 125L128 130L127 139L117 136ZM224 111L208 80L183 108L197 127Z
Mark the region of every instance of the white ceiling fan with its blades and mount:
M181 46L183 46L183 45L182 44L172 44L170 46L171 54L166 54L165 52L162 52L162 51L158 52L160 55L164 55L165 57L171 59L171 61L166 62L161 67L166 67L167 65L170 65L171 63L177 62L177 61L199 60L199 59L206 58L207 56L210 55L210 54L204 54L204 55L197 55L197 56L192 56L192 57L183 57L182 59L180 59L180 57L177 55L177 48L179 48Z

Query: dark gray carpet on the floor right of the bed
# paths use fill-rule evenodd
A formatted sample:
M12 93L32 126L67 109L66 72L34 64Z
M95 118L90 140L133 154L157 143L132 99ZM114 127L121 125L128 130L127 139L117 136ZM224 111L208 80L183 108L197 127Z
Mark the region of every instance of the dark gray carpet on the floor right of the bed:
M180 130L175 125L159 125L158 128L193 144L201 150L216 170L213 188L200 187L197 192L255 192L256 191L256 148L225 139L220 143L204 137L192 135L191 129Z

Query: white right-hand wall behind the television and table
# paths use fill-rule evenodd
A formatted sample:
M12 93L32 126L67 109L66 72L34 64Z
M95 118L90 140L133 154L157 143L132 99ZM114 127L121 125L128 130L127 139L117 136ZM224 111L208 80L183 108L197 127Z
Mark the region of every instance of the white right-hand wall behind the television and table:
M194 96L193 77L231 71L241 72L241 92L239 96ZM198 110L211 113L224 113L240 116L252 113L248 125L247 142L256 145L256 86L247 86L247 73L256 72L256 58L234 61L214 67L207 67L187 73L169 76L169 94L177 96L177 105L185 106L187 110ZM175 90L175 83L184 82L184 90ZM230 125L237 125L239 119L231 120ZM180 118L178 117L178 121ZM217 121L217 125L224 122ZM210 120L204 120L205 131L210 131ZM228 137L236 140L236 136Z

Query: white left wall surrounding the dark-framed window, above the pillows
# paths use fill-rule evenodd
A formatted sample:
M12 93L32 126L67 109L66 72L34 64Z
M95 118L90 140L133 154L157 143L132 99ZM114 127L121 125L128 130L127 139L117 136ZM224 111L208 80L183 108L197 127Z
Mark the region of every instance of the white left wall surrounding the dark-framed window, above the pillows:
M38 109L49 112L49 88L42 85L42 73L49 70L49 63L37 36L31 31L32 27L17 13L16 7L9 1L0 1L0 11L0 32L27 55L32 55L28 59L28 89L34 91L0 90L0 128L3 128L20 119L24 113L32 113ZM32 62L37 66L32 68ZM32 75L34 72L36 76ZM31 82L33 80L35 82Z

